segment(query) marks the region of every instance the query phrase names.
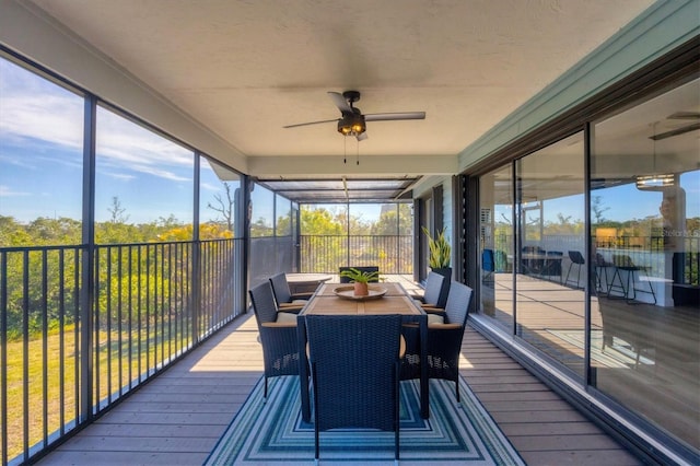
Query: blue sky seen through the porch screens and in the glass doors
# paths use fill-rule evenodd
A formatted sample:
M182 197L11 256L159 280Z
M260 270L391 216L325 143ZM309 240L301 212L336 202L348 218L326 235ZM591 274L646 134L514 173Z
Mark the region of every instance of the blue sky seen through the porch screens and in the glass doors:
M58 85L0 59L0 215L21 222L37 217L80 219L82 198L83 101ZM117 197L133 223L174 215L189 222L192 210L190 151L100 108L97 115L97 221L107 220ZM206 164L205 164L206 165ZM700 217L700 171L685 174L687 217ZM212 172L202 175L202 205L221 191ZM610 220L658 215L661 193L633 185L594 191L603 196ZM556 213L583 219L571 199L548 201L545 220ZM261 206L258 206L261 207ZM358 207L364 220L378 217L380 206ZM215 217L201 210L202 220ZM271 215L269 210L254 213Z

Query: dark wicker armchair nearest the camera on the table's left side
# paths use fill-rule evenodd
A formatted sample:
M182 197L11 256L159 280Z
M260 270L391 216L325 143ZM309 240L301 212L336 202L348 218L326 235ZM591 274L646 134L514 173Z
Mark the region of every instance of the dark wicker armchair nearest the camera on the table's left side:
M265 398L267 398L269 377L299 375L296 315L278 311L269 281L254 287L248 293L262 345Z

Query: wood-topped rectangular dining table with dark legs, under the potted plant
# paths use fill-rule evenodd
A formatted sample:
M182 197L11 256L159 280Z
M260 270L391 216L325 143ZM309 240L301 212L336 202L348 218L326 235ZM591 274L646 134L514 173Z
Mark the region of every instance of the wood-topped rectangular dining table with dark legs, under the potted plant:
M308 303L299 313L298 338L299 338L299 376L301 387L302 418L308 422L311 419L311 400L308 389L308 360L306 359L306 326L304 316L306 315L377 315L377 314L400 314L407 324L418 324L420 329L420 411L423 419L430 416L429 410L429 378L428 378L428 315L422 307L407 293L400 283L383 282L372 283L371 289L381 296L370 296L369 299L355 299L351 292L345 292L341 296L336 293L337 289L349 289L352 286L340 283L324 283L316 290L316 293L308 300ZM371 290L372 291L372 290Z

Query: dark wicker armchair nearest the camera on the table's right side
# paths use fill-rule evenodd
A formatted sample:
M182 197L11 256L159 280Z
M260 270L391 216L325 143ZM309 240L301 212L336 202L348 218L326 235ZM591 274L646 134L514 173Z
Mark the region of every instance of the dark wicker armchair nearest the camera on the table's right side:
M428 315L428 376L453 381L457 401L459 401L459 352L469 314L471 292L471 288L453 280L444 312L429 311ZM407 348L401 378L418 378L420 377L418 327L404 326L404 336Z

